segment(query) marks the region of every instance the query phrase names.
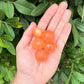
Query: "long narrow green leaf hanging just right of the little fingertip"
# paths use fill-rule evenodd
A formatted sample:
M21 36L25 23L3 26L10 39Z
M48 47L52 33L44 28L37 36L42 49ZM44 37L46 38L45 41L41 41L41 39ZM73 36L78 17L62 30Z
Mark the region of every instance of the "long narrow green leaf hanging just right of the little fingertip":
M77 29L75 28L75 25L72 26L72 33L74 38L74 46L77 46L79 43L79 33Z

